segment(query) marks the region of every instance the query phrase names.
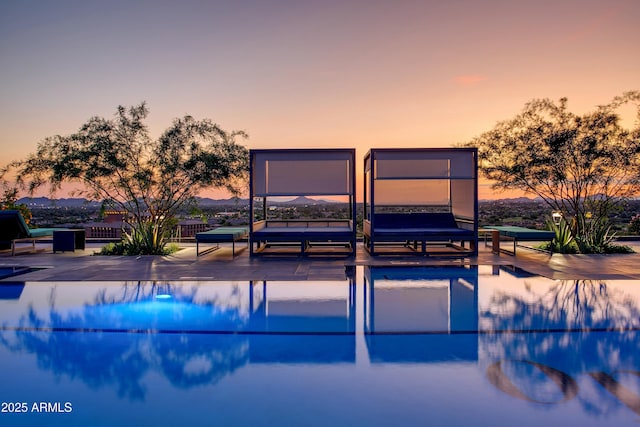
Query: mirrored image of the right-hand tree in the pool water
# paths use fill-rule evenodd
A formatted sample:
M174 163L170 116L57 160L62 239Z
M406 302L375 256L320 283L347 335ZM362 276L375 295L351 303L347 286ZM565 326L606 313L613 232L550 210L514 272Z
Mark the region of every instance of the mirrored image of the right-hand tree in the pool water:
M637 369L640 309L633 298L598 281L559 281L542 294L533 289L527 287L524 296L497 293L480 312L480 328L485 332L481 345L491 360L499 361L487 375L501 385L498 388L518 397L510 382L516 381L517 391L527 390L527 400L533 400L551 381L557 385L551 389L567 397L565 373L575 378L598 373L597 378L591 375L598 381L606 373ZM550 375L545 369L559 374ZM547 391L543 394L552 396ZM592 401L581 393L578 396L590 413L609 409L603 405L611 399L604 395Z

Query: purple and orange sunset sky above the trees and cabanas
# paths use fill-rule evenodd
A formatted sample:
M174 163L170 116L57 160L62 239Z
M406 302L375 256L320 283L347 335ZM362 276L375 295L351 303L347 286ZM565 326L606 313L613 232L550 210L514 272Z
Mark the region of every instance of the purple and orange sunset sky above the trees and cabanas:
M447 147L534 98L640 89L638 22L638 0L3 0L0 165L141 101L154 137L190 114L358 166Z

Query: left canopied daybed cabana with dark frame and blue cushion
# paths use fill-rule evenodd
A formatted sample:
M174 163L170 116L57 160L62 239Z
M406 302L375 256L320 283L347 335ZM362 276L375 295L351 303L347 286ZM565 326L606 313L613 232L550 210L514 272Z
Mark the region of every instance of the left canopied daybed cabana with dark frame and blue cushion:
M355 255L355 150L251 150L250 159L251 255L292 245L295 253L299 248L307 255L336 253L335 247ZM346 199L346 213L342 218L287 219L290 212L275 204L307 196ZM332 250L322 250L328 247Z

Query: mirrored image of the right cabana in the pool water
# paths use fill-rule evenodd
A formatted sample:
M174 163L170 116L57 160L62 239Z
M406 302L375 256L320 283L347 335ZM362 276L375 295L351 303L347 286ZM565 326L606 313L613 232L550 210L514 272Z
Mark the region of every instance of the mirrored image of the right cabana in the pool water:
M365 268L364 310L372 361L478 358L477 266Z

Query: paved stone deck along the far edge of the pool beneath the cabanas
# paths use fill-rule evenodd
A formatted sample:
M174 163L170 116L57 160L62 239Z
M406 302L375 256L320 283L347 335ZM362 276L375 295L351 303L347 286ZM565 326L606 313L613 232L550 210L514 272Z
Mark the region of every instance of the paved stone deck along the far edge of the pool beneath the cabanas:
M0 267L41 268L4 281L110 281L110 280L341 280L346 267L424 265L509 265L552 279L640 280L640 242L624 242L634 254L562 255L530 249L517 256L497 255L483 243L477 257L464 259L421 256L370 256L358 245L355 257L249 257L246 246L231 245L196 257L195 243L170 256L96 256L102 246L89 243L85 250L52 253L39 244L36 252L10 256L0 252Z

